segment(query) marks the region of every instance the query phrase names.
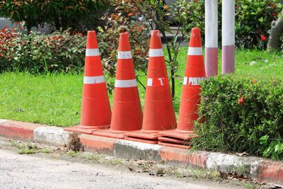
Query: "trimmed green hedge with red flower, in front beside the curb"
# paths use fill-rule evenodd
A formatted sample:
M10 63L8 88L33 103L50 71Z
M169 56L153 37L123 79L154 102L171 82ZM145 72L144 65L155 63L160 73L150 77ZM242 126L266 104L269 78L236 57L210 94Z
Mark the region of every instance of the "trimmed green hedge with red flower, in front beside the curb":
M195 147L283 159L282 84L245 76L204 81Z

